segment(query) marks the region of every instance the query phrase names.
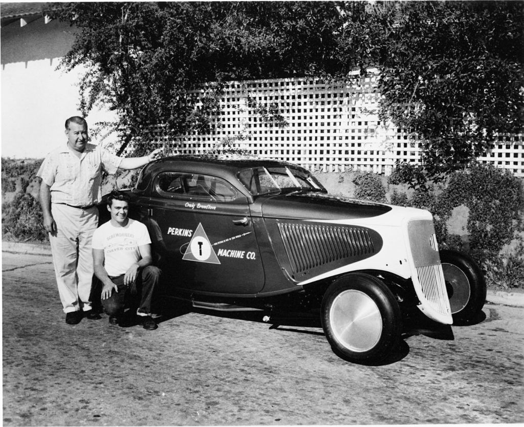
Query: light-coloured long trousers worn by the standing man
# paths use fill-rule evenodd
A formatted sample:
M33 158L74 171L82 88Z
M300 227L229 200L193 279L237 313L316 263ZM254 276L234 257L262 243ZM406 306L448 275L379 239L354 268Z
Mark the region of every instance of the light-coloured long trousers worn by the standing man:
M51 204L57 223L56 236L49 233L54 273L64 313L91 309L89 294L93 279L91 239L98 227L98 209Z

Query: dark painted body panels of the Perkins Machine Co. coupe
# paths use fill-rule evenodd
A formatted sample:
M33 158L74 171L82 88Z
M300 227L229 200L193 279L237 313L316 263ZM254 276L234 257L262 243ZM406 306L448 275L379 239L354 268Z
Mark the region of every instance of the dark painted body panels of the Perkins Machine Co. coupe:
M258 298L299 291L301 286L297 285L298 282L372 256L380 250L380 236L369 230L368 233L372 236L370 239L373 240L373 253L346 253L345 256L328 260L329 262L318 265L313 263L306 270L293 271L285 242L278 230L278 222L298 224L304 221L309 223L311 220L369 218L382 215L391 208L329 196L323 194L326 192L323 188L321 193L305 193L297 189L289 194L254 197L237 179L237 173L244 168L282 165L286 163L261 160L221 161L180 156L163 158L143 169L136 187L126 190L131 197L129 217L144 222L149 229L155 260L164 272L163 291L166 295L174 296L182 292L191 295ZM187 198L167 198L154 185L156 176L166 171L221 177L238 191L240 197L234 202L225 203L202 201L203 205L212 205L213 210L188 207ZM189 201L189 204L192 202ZM195 202L198 203L198 200ZM107 219L107 210L101 209L101 222ZM247 219L246 223L243 223L244 219ZM215 255L222 249L222 254L243 256L235 258L211 255L209 259L214 262L184 260L188 255L184 255L185 248L199 227L204 230L206 237L199 243L209 241ZM310 250L318 251L315 248ZM247 253L250 259L246 259Z

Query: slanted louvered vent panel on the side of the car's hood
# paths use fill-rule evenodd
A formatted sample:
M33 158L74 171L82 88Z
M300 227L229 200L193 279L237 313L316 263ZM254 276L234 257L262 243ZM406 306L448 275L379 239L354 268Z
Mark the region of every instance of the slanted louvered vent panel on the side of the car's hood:
M279 222L278 229L295 273L375 253L373 240L364 228Z

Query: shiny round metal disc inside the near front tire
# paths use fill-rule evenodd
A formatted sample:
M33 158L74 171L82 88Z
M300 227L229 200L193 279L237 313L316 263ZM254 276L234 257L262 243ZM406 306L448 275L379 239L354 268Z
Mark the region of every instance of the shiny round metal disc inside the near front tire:
M347 290L336 296L331 305L330 326L334 338L352 351L368 351L382 334L382 316L367 294Z

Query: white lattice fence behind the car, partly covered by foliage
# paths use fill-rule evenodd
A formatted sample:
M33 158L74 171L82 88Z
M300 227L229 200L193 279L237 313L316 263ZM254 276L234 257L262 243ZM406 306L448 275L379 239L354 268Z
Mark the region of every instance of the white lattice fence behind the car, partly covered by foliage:
M259 158L297 163L310 170L361 170L389 175L397 161L418 164L420 142L377 116L376 77L352 86L329 86L316 79L231 82L221 100L216 131L190 133L169 141L173 154L204 154L234 141ZM198 91L195 91L198 93ZM248 106L274 105L288 126L280 129ZM161 127L152 138L168 142ZM509 138L509 139L508 139ZM522 135L504 135L480 160L524 176Z

